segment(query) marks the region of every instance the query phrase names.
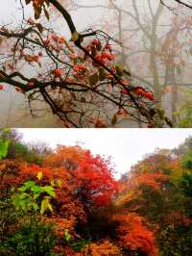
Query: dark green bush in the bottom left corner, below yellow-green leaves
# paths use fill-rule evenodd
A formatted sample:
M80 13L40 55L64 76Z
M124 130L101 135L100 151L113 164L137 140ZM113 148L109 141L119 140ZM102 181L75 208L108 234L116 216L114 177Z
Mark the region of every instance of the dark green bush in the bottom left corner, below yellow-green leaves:
M38 222L36 218L31 218L2 244L0 252L4 250L8 254L13 252L13 255L18 256L56 255L52 249L57 243L57 238L52 228L51 224Z

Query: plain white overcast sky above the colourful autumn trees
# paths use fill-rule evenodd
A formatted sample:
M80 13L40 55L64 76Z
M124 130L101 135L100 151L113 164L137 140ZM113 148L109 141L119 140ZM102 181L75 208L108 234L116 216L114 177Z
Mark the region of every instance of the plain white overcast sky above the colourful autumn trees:
M111 156L116 170L124 173L156 148L174 148L188 136L192 129L17 129L23 141L46 141L55 148L57 144L74 145L77 141L93 154Z

